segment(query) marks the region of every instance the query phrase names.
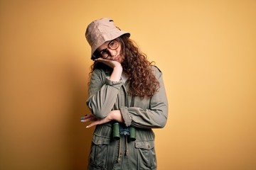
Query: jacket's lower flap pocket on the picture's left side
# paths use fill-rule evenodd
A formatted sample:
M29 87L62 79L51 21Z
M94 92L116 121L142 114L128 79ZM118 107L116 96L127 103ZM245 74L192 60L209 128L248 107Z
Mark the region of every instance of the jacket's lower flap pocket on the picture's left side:
M90 166L93 169L107 169L109 144L110 137L93 135L90 150Z

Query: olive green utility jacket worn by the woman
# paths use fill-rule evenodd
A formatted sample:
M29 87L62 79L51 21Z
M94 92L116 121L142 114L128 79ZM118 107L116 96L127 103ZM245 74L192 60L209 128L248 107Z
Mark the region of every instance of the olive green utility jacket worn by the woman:
M168 102L162 73L152 67L160 89L151 98L130 96L129 81L110 81L111 71L95 69L90 80L87 106L96 118L105 118L112 110L120 110L125 126L136 128L136 140L126 136L113 140L112 123L97 125L87 169L156 169L154 132L151 128L164 128Z

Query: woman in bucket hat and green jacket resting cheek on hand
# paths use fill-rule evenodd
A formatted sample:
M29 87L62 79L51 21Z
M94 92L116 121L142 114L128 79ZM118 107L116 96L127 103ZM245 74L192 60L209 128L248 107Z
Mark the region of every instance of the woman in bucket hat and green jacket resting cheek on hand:
M87 26L94 60L82 122L96 125L87 169L156 169L154 132L164 128L168 103L161 71L129 39L102 18Z

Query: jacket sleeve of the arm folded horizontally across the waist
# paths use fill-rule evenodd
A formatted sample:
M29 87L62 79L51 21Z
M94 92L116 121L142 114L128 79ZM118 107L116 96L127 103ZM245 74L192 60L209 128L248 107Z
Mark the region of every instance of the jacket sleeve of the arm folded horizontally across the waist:
M160 89L149 100L149 108L122 106L121 113L125 125L136 128L164 128L168 115L168 101L164 81L159 69L154 67L159 80Z

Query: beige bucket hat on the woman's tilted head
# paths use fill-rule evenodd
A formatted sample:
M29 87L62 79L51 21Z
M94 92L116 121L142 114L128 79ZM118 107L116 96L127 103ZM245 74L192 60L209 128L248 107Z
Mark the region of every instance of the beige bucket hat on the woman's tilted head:
M122 31L117 26L114 26L114 21L110 18L101 18L92 21L92 23L87 26L85 32L85 38L92 48L91 59L96 59L93 53L100 47L100 45L124 34L127 34L128 37L130 36L130 33Z

